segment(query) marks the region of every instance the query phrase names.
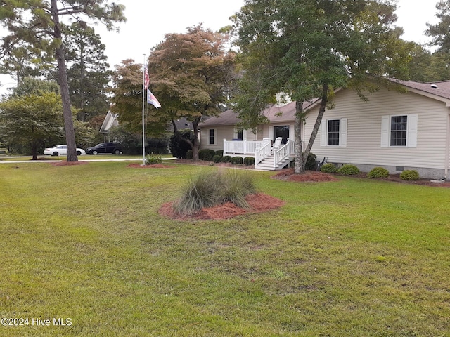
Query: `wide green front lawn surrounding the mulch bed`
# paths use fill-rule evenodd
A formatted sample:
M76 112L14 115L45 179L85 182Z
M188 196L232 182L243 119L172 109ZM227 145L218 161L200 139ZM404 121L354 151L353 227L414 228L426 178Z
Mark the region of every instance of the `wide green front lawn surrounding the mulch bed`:
M450 336L449 189L254 172L282 209L159 216L196 171L0 164L0 336Z

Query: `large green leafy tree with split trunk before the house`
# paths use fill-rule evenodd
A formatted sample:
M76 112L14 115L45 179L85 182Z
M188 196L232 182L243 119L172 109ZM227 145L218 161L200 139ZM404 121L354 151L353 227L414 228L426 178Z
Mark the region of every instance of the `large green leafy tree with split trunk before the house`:
M365 98L364 90L377 89L373 81L406 71L409 45L392 29L394 9L379 0L246 0L234 17L245 70L236 110L254 128L277 93L296 101L295 173L304 173L335 89L352 87ZM317 98L319 115L303 149L303 103Z

